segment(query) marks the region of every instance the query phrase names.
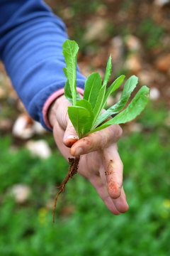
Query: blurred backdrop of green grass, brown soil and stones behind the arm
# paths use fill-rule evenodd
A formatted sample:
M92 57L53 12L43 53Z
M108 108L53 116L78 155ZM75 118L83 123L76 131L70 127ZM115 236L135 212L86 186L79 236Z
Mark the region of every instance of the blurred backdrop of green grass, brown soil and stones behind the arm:
M115 216L77 174L52 208L68 171L52 134L26 113L0 63L0 255L170 255L170 2L47 0L80 47L84 75L110 83L137 75L150 88L145 111L118 143L130 209ZM108 105L120 97L112 95Z

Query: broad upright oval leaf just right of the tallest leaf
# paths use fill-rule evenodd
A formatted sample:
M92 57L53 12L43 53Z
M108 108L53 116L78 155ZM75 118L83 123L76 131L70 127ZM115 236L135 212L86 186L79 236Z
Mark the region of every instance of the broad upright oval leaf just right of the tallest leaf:
M91 102L92 109L96 104L98 92L101 89L101 76L98 73L92 73L86 79L84 86L84 100Z

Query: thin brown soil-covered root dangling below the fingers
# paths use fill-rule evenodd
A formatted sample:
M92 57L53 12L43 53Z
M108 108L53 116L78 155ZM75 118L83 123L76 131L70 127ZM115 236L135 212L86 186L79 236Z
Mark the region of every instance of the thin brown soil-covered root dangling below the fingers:
M62 193L62 191L64 190L64 186L66 185L67 181L69 181L69 178L72 178L74 176L74 174L77 174L77 170L79 167L79 158L80 158L79 156L76 156L74 159L69 158L68 174L67 174L66 178L64 179L64 181L62 181L61 185L57 187L57 188L60 188L60 191L57 193L57 196L55 198L55 205L54 205L54 209L53 209L53 223L55 223L55 208L56 208L57 198L60 195L60 193Z

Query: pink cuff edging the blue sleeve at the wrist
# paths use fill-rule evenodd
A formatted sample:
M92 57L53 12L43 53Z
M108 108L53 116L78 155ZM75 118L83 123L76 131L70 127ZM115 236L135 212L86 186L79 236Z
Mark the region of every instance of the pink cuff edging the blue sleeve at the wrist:
M84 95L84 90L81 89L80 87L77 87L77 92L79 92L81 95ZM44 122L47 125L47 127L51 130L52 130L52 127L47 118L47 112L52 102L56 100L57 97L60 97L61 95L64 95L64 88L57 90L56 92L53 92L52 95L50 95L50 97L46 100L45 105L42 108L42 115L43 115Z

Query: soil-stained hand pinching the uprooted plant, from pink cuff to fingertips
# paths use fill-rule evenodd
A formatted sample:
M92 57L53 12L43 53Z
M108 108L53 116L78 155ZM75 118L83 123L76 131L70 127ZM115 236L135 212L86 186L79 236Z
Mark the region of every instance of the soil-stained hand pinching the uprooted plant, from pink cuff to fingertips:
M53 102L48 114L58 149L67 161L69 157L81 156L79 174L89 179L111 213L125 213L128 203L122 186L123 163L117 146L122 129L113 124L79 139L67 114L69 105L62 95Z

